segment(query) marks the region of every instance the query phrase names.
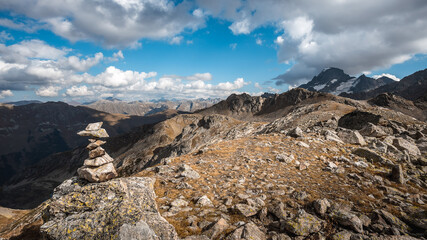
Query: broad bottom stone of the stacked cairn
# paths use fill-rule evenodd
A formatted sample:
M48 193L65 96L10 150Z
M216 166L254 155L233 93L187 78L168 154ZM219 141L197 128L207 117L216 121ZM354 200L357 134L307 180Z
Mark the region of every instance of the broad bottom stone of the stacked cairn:
M99 167L83 166L77 169L79 177L89 182L104 182L117 177L116 169L112 163L107 163Z

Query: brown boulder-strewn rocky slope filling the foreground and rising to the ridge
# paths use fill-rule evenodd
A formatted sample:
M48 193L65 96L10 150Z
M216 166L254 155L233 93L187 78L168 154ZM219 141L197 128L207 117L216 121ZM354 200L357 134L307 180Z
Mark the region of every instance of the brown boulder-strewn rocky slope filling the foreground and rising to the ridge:
M233 95L109 140L123 141L106 148L118 179L67 180L0 236L423 239L426 134L423 121L331 94Z

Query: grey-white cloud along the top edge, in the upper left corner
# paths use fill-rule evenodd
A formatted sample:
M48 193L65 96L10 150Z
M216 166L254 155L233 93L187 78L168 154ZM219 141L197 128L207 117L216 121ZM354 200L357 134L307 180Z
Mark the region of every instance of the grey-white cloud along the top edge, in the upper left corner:
M187 1L175 4L168 0L4 0L0 6L36 19L72 42L90 40L108 47L134 46L142 38L171 38L187 29L196 30L204 24L204 12L191 12L193 8ZM6 25L19 23L3 23Z

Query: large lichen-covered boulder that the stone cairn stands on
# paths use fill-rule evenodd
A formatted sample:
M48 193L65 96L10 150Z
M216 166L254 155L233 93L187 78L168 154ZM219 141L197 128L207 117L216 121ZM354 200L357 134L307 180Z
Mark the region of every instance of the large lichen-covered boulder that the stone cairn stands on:
M151 178L64 184L44 214L45 239L178 239L158 212Z

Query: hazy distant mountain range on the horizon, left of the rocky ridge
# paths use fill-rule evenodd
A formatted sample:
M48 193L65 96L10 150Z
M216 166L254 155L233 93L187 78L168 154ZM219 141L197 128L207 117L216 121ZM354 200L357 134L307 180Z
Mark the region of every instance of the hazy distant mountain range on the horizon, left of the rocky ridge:
M148 116L165 110L194 112L196 110L210 107L217 102L219 102L219 99L163 100L154 102L125 102L118 99L105 99L85 104L84 106L108 113Z

